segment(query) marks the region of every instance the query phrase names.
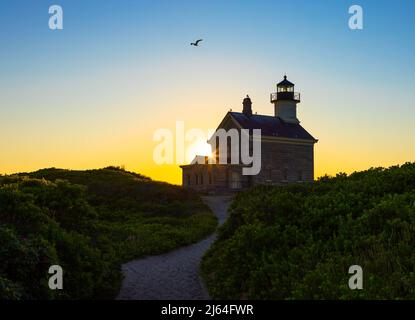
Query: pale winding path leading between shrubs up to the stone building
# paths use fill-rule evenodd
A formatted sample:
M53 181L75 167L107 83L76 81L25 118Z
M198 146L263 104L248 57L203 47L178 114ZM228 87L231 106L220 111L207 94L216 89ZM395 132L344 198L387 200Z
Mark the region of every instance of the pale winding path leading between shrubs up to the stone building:
M208 196L203 201L218 217L219 224L223 224L230 198ZM215 237L213 234L196 244L124 264L124 281L117 299L209 299L199 278L199 264Z

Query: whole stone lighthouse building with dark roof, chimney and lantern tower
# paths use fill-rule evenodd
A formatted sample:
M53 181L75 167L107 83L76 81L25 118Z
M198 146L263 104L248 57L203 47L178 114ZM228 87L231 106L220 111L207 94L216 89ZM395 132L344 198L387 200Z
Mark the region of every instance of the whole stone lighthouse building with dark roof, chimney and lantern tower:
M261 130L261 169L256 175L244 175L242 162L231 163L229 145L225 151L227 162L220 164L218 155L221 145L214 139L212 159L197 156L189 165L183 165L184 187L201 192L238 191L257 184L286 185L314 180L314 144L317 142L301 125L297 118L300 94L294 84L284 80L277 84L277 92L271 94L274 115L258 115L252 112L252 102L247 96L243 100L242 112L228 112L218 129ZM218 130L217 129L217 130ZM252 140L252 135L250 136ZM251 146L252 152L252 146ZM222 150L223 151L223 150ZM216 162L216 163L212 163Z

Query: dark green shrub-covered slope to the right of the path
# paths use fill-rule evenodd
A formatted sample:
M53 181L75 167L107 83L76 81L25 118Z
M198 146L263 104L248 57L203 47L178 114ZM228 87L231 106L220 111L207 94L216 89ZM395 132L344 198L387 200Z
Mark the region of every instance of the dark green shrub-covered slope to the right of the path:
M351 265L363 290L350 290ZM202 272L220 299L415 299L415 163L239 194Z

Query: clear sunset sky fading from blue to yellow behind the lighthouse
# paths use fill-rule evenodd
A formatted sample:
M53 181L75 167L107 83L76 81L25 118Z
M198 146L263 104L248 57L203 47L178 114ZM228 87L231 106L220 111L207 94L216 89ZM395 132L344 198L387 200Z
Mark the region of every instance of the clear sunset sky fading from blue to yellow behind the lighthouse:
M272 115L284 74L319 140L316 177L415 161L414 21L411 0L2 0L0 173L118 165L179 184L153 160L155 131L207 132L246 94Z

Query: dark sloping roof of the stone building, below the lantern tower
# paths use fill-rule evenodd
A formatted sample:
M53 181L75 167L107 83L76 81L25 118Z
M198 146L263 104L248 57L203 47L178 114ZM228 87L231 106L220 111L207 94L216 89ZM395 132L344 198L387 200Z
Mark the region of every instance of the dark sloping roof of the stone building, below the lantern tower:
M316 140L300 124L284 122L279 117L253 114L247 117L241 112L229 112L243 129L261 129L263 136Z

